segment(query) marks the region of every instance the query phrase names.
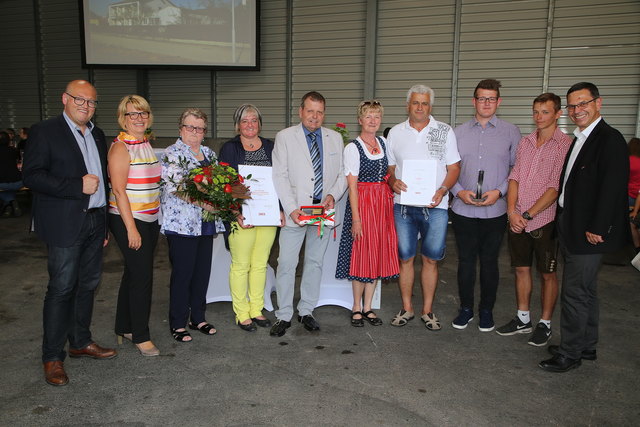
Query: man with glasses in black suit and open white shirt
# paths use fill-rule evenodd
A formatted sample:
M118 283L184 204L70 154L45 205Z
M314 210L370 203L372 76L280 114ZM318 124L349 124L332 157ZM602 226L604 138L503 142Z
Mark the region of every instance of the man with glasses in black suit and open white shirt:
M597 274L604 253L619 249L628 233L629 157L620 132L600 116L602 99L593 83L567 92L567 110L577 125L560 177L556 224L565 266L560 301L560 346L540 362L549 372L596 359Z

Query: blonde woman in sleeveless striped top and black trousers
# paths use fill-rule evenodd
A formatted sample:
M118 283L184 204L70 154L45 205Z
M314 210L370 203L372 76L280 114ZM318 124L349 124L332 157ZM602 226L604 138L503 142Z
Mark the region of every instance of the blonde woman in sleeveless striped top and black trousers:
M149 335L149 313L161 166L145 136L153 123L149 103L138 95L125 96L118 105L118 123L124 132L113 141L108 157L109 229L124 257L115 331L119 343L126 338L143 356L158 356Z

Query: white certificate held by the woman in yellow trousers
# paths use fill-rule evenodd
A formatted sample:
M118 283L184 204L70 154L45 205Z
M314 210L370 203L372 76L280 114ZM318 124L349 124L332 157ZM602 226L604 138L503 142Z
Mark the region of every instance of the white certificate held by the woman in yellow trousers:
M251 198L242 205L246 225L280 225L280 205L271 178L271 166L238 165L238 173L245 177ZM250 179L246 179L251 175Z

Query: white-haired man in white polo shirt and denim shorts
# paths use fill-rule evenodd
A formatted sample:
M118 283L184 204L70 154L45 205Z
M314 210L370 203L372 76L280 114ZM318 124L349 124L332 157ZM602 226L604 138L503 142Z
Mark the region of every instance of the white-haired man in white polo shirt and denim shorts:
M407 93L407 121L397 124L389 132L389 186L396 193L393 213L398 234L400 257L400 294L402 309L393 319L393 326L404 326L414 318L411 295L413 290L413 259L416 255L418 234L422 239L422 316L427 329L441 328L433 314L433 298L438 284L438 261L444 258L445 239L449 215L449 188L458 179L460 156L453 129L431 115L435 94L424 85L415 85ZM430 203L403 205L400 194L407 191L402 181L405 160L435 160L436 185L439 185Z

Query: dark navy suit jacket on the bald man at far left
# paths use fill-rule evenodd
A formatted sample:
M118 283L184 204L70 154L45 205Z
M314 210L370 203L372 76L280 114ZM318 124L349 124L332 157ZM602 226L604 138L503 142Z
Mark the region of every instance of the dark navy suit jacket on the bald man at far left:
M89 195L82 192L87 167L71 132L62 115L34 125L24 159L23 181L33 191L34 229L48 245L57 247L69 247L76 241L89 207ZM108 197L105 136L97 126L91 133L100 155L100 181Z

